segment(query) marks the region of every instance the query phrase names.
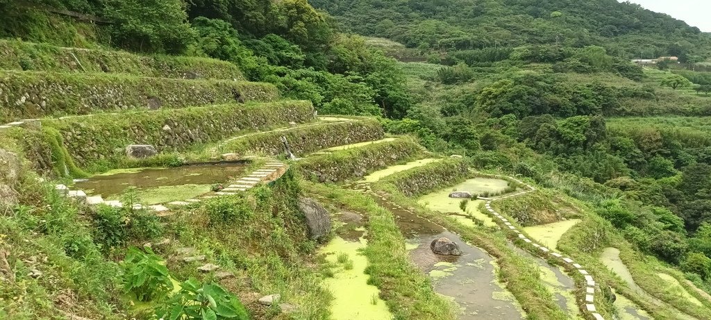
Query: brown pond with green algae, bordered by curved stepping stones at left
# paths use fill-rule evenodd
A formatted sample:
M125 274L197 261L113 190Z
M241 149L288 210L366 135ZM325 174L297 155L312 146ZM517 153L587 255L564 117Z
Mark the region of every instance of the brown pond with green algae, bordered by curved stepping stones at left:
M245 164L205 164L159 169L109 171L75 183L73 188L92 196L117 198L136 187L146 203L194 198L210 191L210 184L225 183L242 176Z

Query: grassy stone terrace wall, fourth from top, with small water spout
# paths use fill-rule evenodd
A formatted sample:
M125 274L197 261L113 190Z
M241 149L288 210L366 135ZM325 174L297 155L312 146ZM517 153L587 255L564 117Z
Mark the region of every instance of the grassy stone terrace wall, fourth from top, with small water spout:
M383 127L375 119L347 122L324 122L292 129L249 134L246 137L228 140L220 150L237 154L282 154L286 137L292 153L297 156L338 146L344 143L369 142L383 137Z

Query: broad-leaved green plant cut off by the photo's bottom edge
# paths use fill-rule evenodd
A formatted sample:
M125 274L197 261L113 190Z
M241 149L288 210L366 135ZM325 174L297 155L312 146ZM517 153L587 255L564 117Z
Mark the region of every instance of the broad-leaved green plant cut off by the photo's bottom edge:
M201 284L191 278L181 284L181 291L174 294L156 315L164 320L200 319L247 320L247 310L237 297L218 284Z

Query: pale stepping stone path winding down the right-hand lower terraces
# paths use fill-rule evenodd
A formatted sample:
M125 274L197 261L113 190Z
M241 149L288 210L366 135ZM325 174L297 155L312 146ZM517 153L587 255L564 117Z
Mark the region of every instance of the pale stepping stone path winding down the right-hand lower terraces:
M584 276L584 278L585 278L585 284L586 284L586 288L585 288L585 292L586 292L586 294L585 294L585 309L590 313L590 315L592 315L592 317L593 317L595 320L604 320L604 317L603 317L601 314L599 314L599 313L597 312L597 308L595 307L595 304L594 304L594 298L595 298L595 297L594 297L594 294L595 294L595 289L596 289L596 287L595 287L595 280L594 280L594 278L592 277L592 275L590 275L590 274L587 272L587 270L584 270L584 269L583 269L582 265L577 264L577 263L576 263L574 260L572 260L570 257L565 257L564 255L561 255L561 254L558 253L558 252L554 252L554 251L553 251L552 249L550 249L550 248L544 247L544 246L542 246L542 245L540 245L540 244L538 244L538 243L536 243L536 242L533 242L533 240L530 240L528 237L526 237L525 235L523 235L523 234L518 230L518 228L515 227L515 225L513 225L512 223L509 222L509 220L507 220L506 218L503 218L503 216L502 216L500 213L496 212L496 210L493 210L493 208L491 208L491 203L492 203L493 201L499 201L499 200L502 200L502 199L511 198L511 197L515 197L515 196L521 196L521 195L524 195L524 194L526 194L526 193L533 192L533 191L535 191L536 189L535 189L533 186L531 186L530 184L526 184L526 183L524 183L523 181L520 181L520 180L518 180L518 179L516 179L516 178L512 178L512 177L508 177L508 176L500 176L500 175L495 175L495 174L494 174L494 175L492 175L492 174L485 174L485 176L493 176L493 177L496 177L496 178L510 179L510 180L513 180L513 181L515 181L515 182L517 182L517 183L523 184L523 185L525 185L525 186L528 188L527 191L521 191L521 192L519 192L519 193L513 193L513 194L507 195L507 196L501 196L501 197L497 197L497 198L482 198L482 197L479 197L479 199L486 201L486 204L484 205L484 207L486 208L486 210L488 211L488 213L490 213L491 215L493 215L494 218L496 218L495 220L500 221L500 222L501 222L501 225L508 227L507 229L509 229L511 232L518 234L518 235L517 235L518 240L523 240L523 243L524 243L524 244L533 245L533 247L536 247L538 250L540 250L540 252L538 252L538 255L540 255L542 258L545 259L545 258L547 257L547 255L551 255L552 257L555 257L555 258L556 258L556 260L559 262L559 264L561 264L561 265L567 265L567 266L569 266L569 267L574 268L575 270L578 270L578 272L579 272L580 274L582 274L582 275ZM520 243L520 242L515 242L516 245L518 245L519 243ZM520 246L520 245L519 245L519 246Z

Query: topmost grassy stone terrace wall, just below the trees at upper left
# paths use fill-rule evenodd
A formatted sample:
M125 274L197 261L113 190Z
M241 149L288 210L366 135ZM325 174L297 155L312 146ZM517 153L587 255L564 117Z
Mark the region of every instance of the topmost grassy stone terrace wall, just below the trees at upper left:
M0 69L62 73L127 73L144 77L245 80L227 61L124 51L61 48L23 41L0 41Z

